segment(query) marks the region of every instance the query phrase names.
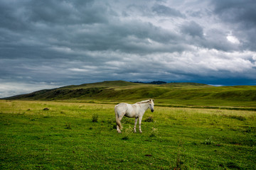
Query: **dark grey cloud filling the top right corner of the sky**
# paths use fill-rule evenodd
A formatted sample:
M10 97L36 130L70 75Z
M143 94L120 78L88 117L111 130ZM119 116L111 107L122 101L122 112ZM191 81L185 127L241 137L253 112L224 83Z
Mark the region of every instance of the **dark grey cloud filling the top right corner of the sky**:
M233 27L234 35L243 41L242 47L255 50L256 3L253 0L212 1L214 13Z

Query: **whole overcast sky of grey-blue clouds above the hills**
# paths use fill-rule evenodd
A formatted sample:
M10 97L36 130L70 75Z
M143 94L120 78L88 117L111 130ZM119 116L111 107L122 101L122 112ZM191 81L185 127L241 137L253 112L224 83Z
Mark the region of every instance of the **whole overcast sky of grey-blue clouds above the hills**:
M0 0L0 98L105 80L256 85L255 0Z

